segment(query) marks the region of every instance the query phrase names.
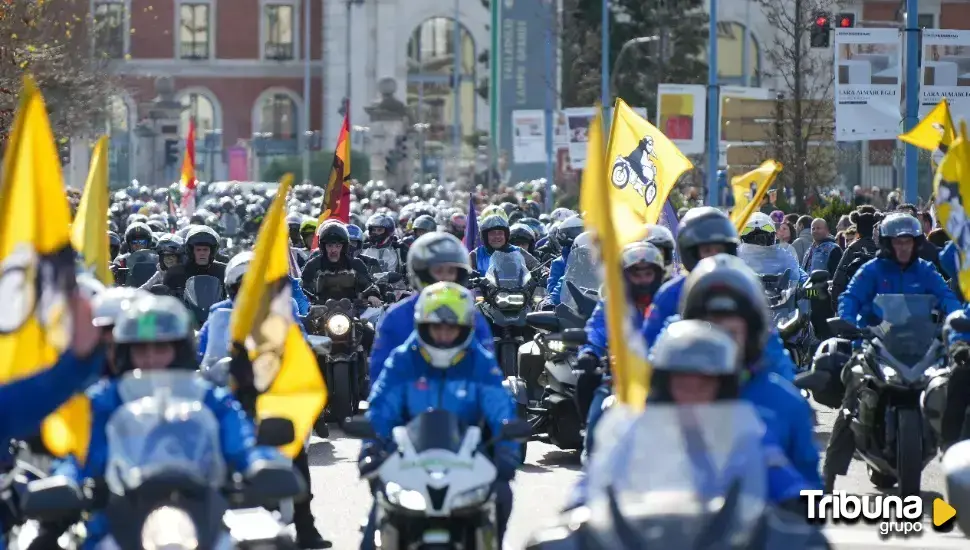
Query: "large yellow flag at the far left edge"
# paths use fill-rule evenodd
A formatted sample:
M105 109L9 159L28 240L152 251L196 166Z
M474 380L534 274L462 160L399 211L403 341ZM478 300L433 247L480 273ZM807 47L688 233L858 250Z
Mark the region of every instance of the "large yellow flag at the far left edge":
M70 344L70 223L47 108L26 77L0 183L0 383L50 368Z

